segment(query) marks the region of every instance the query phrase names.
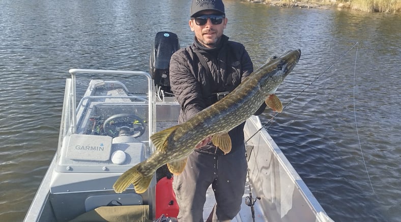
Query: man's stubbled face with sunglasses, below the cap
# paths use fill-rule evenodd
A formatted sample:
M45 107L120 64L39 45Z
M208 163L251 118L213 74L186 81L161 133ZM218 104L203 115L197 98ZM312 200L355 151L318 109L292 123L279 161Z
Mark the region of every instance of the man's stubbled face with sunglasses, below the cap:
M197 17L202 15L213 15L215 13L215 11L207 10L203 11L202 14ZM196 39L208 48L213 48L217 45L220 37L223 35L223 30L225 29L226 24L227 18L225 17L220 24L213 24L210 18L208 18L204 25L196 24L195 19L189 20L189 27L191 28L191 31L195 33Z

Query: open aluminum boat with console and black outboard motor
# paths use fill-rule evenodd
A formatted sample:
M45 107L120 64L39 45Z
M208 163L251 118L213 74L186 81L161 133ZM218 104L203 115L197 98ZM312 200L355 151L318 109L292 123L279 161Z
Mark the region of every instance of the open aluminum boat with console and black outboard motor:
M175 221L171 182L159 169L144 193L112 185L148 158L153 133L178 124L168 62L179 48L174 33L156 35L150 73L71 69L66 79L58 149L24 221ZM262 128L262 129L261 129ZM248 180L233 221L332 221L258 117L245 124ZM204 220L215 205L207 192Z

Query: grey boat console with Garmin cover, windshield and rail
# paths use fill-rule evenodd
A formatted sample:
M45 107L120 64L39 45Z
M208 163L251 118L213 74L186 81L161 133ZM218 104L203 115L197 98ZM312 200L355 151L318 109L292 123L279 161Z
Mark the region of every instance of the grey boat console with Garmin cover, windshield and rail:
M80 79L77 74L100 73L70 70L72 78L66 82L59 148L50 181L50 203L59 221L68 221L100 206L154 202L156 179L141 195L133 187L124 193L115 193L112 188L123 172L152 153L149 135L156 126L149 74L115 72L109 70L101 75L126 75L128 81ZM139 79L143 81L138 82ZM80 92L84 92L81 99L77 98ZM79 101L78 105L75 101Z

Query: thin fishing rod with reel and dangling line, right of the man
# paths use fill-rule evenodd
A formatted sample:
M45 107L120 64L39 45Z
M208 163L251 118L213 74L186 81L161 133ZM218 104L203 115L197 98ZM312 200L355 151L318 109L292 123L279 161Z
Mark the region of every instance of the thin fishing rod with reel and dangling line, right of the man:
M342 59L344 56L346 56L346 54L356 46L355 65L354 65L354 96L353 96L353 97L354 97L355 126L356 126L356 131L357 131L357 136L358 136L358 142L359 142L360 151L361 151L361 154L362 154L363 164L365 165L365 170L366 170L366 173L367 173L367 177L368 177L368 179L369 179L370 186L371 186L371 188L372 188L372 190L373 190L373 193L375 193L375 190L374 190L374 188L373 188L373 185L372 185L372 183L371 183L371 181L370 181L370 176L369 176L369 173L368 173L368 171L367 171L365 159L364 159L364 156L363 156L362 146L361 146L361 142L360 142L360 139L359 139L357 120L356 120L356 108L355 108L355 78L356 78L356 77L355 77L355 76L356 76L356 61L357 61L357 55L358 55L358 44L359 44L359 42L356 42L351 48L349 48L345 53L343 53L340 57L338 57L338 59L335 60L326 70L324 70L322 73L320 73L316 78L314 78L314 79L309 83L308 86L306 86L300 93L298 93L293 99L291 99L290 102L288 102L288 103L282 108L282 110L284 110L285 108L287 108L287 106L289 106L296 98L298 98L299 95L301 95L302 93L304 93L315 81L317 81L323 74L325 74L328 70L330 70L340 59ZM276 113L275 115L273 115L265 124L262 125L262 127L261 127L260 129L256 130L256 132L253 133L253 134L248 138L248 140L245 142L245 144L248 143L248 141L249 141L253 136L255 136L259 131L261 131L263 128L268 129L268 128L273 124L273 123L271 123L271 122L273 121L273 119L274 119L277 115L279 115L279 114L280 114L280 113ZM265 127L265 126L266 126L267 124L269 124L269 123L271 123L271 124L270 124L269 126ZM246 150L247 150L247 149L246 149ZM251 148L249 154L248 154L248 152L246 152L246 155L245 155L245 156L246 156L246 157L250 156L250 154L252 153L252 151L253 151L253 146L252 146L252 148ZM247 159L247 161L249 161L249 158ZM245 204L248 205L248 206L251 208L252 219L253 219L253 221L255 221L254 204L255 204L256 200L260 200L261 198L260 198L260 197L256 197L256 198L253 198L253 197L252 197L251 181L250 181L250 176L249 176L249 168L248 168L247 176L248 176L248 183L249 183L249 196L245 198Z

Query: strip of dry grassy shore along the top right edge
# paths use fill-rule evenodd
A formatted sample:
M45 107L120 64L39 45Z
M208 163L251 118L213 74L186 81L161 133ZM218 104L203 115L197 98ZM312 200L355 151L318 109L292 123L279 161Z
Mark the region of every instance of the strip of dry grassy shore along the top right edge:
M280 7L350 9L363 12L401 12L401 0L247 0Z

